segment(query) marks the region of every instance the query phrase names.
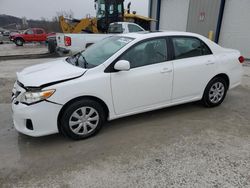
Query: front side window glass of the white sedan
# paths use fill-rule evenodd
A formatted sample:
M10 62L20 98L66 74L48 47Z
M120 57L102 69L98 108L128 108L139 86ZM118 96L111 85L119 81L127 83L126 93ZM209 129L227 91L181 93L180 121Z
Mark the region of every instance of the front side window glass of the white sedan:
M167 61L167 43L164 38L142 42L130 48L119 60L130 62L130 68L136 68Z

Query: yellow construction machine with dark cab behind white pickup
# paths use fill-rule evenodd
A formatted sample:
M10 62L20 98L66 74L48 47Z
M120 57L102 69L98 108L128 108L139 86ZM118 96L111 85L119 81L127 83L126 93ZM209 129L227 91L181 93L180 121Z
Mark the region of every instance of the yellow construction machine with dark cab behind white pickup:
M137 15L135 11L131 13L128 3L127 10L124 9L124 0L94 0L96 17L90 16L81 20L66 19L59 17L60 26L63 33L106 33L110 23L113 22L133 22L145 30L150 30L150 24L154 19Z

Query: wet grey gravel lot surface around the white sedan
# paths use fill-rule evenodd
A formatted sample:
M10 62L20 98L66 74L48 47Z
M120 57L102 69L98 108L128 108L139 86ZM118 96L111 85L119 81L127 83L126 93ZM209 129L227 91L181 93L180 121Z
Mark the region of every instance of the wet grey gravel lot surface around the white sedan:
M190 103L144 113L74 142L31 138L12 126L14 72L47 60L0 62L0 187L250 186L250 66L218 108Z

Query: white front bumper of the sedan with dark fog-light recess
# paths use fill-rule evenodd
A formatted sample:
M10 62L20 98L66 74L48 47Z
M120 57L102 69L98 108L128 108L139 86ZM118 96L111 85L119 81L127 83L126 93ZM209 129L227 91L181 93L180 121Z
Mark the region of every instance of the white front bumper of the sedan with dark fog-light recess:
M18 132L34 137L58 133L57 117L61 108L46 101L30 106L12 103L14 126Z

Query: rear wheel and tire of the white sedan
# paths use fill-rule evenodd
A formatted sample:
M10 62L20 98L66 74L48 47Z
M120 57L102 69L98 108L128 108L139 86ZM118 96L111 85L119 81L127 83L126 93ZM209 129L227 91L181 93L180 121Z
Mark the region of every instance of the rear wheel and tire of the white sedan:
M219 106L225 99L228 85L224 78L215 77L206 86L202 103L206 107Z

